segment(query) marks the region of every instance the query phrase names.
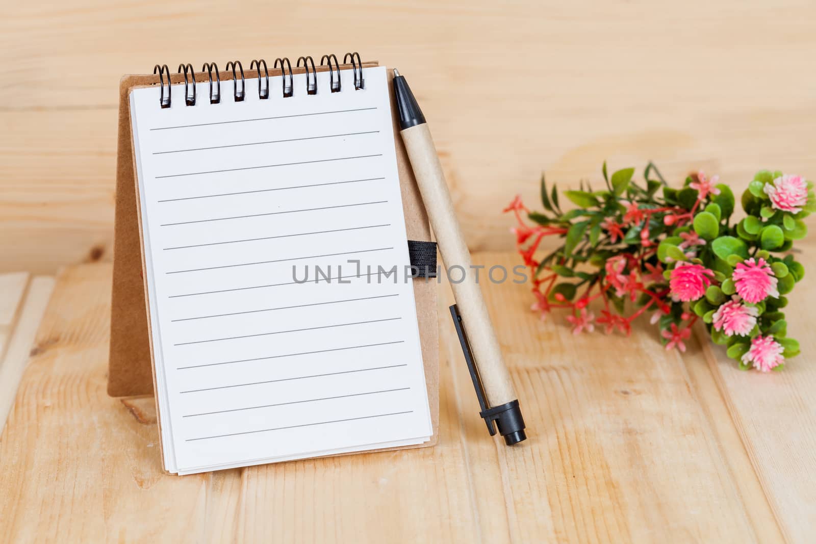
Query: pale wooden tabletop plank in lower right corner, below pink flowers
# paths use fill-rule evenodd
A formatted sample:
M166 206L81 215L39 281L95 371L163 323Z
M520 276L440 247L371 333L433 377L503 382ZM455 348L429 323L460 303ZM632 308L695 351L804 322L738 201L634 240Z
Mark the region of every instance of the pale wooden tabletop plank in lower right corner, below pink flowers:
M805 268L816 266L816 244L801 242L796 257ZM782 372L743 372L725 350L707 341L698 329L703 353L728 403L756 475L787 542L813 542L816 534L816 338L813 312L816 285L812 278L796 284L785 308L787 334L800 342L802 355Z

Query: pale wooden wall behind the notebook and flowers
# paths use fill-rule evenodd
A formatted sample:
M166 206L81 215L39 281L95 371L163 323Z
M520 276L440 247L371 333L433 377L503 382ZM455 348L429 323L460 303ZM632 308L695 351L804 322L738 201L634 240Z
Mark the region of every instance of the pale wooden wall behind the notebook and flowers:
M508 249L516 193L655 161L743 188L816 179L816 4L4 2L0 272L109 260L118 81L153 64L324 53L400 69L473 250ZM270 62L271 65L271 62ZM174 70L175 71L175 70Z

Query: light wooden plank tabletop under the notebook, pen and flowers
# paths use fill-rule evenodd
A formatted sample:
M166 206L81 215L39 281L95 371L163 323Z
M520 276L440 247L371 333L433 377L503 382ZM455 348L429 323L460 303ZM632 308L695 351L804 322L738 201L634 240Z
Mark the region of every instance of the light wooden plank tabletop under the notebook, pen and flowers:
M813 267L816 245L805 248ZM771 374L741 372L694 338L685 356L666 352L645 319L629 338L576 338L563 316L528 311L527 286L486 285L528 423L529 440L513 448L477 416L442 285L435 448L179 477L162 473L153 399L105 393L110 277L106 263L66 268L44 310L49 278L0 276L0 406L14 399L0 437L3 542L742 544L816 534L813 281L792 299L789 330L804 355Z

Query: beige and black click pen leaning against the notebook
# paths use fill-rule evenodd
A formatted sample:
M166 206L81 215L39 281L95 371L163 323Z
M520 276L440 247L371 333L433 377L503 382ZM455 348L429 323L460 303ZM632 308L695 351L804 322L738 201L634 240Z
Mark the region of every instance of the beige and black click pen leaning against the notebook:
M462 267L463 281L450 281L455 304L450 307L473 387L481 406L481 417L488 431L495 434L493 422L508 445L526 439L516 391L504 365L499 340L490 322L485 300L472 274L470 252L462 229L456 220L453 201L442 174L428 123L405 77L394 70L394 95L400 117L400 134L405 143L419 193L428 210L433 233L437 238L442 262L446 268ZM465 325L467 323L467 325Z

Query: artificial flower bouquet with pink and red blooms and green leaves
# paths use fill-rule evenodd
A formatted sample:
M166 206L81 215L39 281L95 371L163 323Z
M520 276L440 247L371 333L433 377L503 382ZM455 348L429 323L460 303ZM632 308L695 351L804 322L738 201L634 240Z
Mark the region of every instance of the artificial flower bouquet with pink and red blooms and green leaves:
M813 184L798 175L762 170L741 197L745 217L735 218L734 194L703 172L672 188L649 164L643 184L628 168L607 174L605 188L563 194L578 208L561 210L557 188L541 179L543 212L520 197L512 229L533 272L534 311L570 310L575 334L603 325L606 334L629 334L645 312L667 349L685 351L691 326L702 319L712 341L727 347L741 369L782 369L799 353L787 338L785 296L805 269L790 253L805 237L803 219L816 211ZM532 224L528 223L526 219ZM563 243L539 259L544 237ZM597 317L588 308L601 299Z

